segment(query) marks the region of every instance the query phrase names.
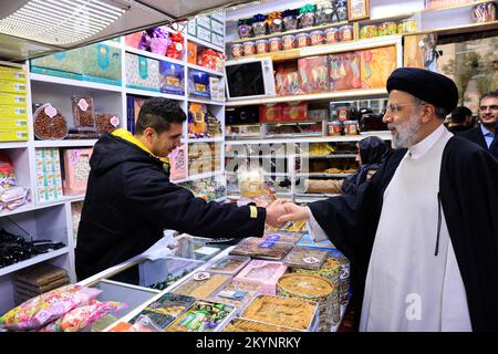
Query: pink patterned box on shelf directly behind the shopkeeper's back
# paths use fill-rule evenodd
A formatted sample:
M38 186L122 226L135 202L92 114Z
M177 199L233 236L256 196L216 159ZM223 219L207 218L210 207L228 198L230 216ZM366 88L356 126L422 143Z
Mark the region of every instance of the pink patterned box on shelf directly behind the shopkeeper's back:
M81 195L86 190L90 174L90 158L93 148L69 148L64 150L65 195Z

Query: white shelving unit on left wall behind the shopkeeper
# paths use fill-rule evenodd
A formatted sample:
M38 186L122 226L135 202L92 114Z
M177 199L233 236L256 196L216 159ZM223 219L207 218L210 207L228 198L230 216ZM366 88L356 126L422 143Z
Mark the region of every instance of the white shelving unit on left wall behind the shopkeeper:
M173 30L169 30L174 32ZM37 140L33 132L33 113L32 104L34 103L52 103L56 106L62 115L68 119L68 124L72 125L72 105L71 95L87 95L92 96L94 101L94 112L96 113L112 113L117 114L121 117L120 127L127 128L127 95L136 95L142 97L166 97L176 100L180 103L183 110L187 113L188 103L197 102L205 103L211 113L217 116L221 122L221 136L214 138L188 138L187 123L185 124L183 143L188 146L193 143L220 144L220 170L205 174L188 174L186 178L173 180L174 183L186 183L191 180L198 180L203 178L210 178L222 176L225 170L225 158L222 154L225 148L222 147L225 136L225 102L212 102L205 98L196 98L188 96L187 73L188 70L204 71L210 75L217 77L224 77L224 73L217 72L210 69L206 69L199 65L190 64L187 62L186 49L187 41L191 41L204 48L214 49L225 53L224 48L217 48L210 43L198 40L187 34L186 28L184 34L184 56L183 60L175 60L164 55L158 55L147 51L134 49L125 44L124 38L121 38L118 42L105 41L104 44L108 44L114 49L118 49L122 60L122 82L118 85L87 82L73 79L65 79L59 76L51 76L46 74L30 73L29 62L24 65L10 64L1 62L2 65L12 65L15 67L24 67L28 76L27 84L27 108L29 112L28 126L29 126L29 140L28 142L6 142L0 143L0 152L10 156L13 160L15 168L15 176L19 185L30 187L32 201L28 205L21 206L13 210L0 211L0 227L4 227L9 230L10 220L14 220L24 230L29 230L30 236L33 239L52 239L54 242L64 242L65 247L49 253L40 254L31 259L11 264L9 267L0 268L0 314L4 313L9 309L14 306L13 299L13 282L12 274L17 271L25 269L28 267L41 263L50 262L58 267L68 270L70 280L76 281L74 270L74 248L75 240L73 236L73 221L71 215L71 206L73 202L81 202L84 200L84 195L76 196L63 196L56 200L41 202L37 198L37 184L35 184L35 149L38 148L79 148L79 147L92 147L96 143L96 139L62 139L62 140ZM224 45L225 46L225 45ZM126 84L126 53L133 53L142 56L146 56L153 60L167 61L169 63L179 64L184 67L184 81L185 81L185 94L173 95L157 91L137 90L127 87ZM62 155L61 155L62 159ZM218 201L226 199L226 196L218 198ZM52 233L48 231L54 230ZM17 229L12 229L11 232L18 232Z

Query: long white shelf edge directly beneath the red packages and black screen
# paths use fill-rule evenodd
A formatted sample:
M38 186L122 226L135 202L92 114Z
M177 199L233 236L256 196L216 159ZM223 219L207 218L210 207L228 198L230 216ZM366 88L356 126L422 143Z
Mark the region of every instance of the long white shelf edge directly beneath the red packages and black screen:
M281 102L298 102L298 101L328 101L338 98L356 98L356 97L372 97L386 95L387 91L385 88L363 88L363 90L343 90L323 93L311 93L303 95L292 95L292 96L273 96L267 98L248 98L240 101L227 101L225 105L227 107L238 107L246 105L256 104L269 104L269 103L281 103Z

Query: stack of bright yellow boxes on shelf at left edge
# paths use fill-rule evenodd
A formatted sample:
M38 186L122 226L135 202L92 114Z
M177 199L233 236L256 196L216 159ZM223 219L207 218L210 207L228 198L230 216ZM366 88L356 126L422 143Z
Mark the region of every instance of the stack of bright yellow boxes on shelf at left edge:
M28 140L27 74L0 66L0 142Z

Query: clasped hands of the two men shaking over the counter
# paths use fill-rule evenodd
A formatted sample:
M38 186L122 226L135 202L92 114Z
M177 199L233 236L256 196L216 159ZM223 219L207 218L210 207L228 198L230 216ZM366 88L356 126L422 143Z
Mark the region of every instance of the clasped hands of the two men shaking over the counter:
M309 209L300 207L287 199L276 199L271 204L256 199L256 205L267 209L266 222L274 228L281 228L288 221L308 220Z

